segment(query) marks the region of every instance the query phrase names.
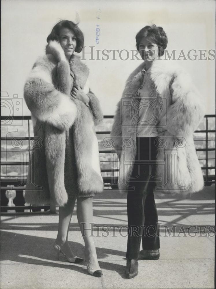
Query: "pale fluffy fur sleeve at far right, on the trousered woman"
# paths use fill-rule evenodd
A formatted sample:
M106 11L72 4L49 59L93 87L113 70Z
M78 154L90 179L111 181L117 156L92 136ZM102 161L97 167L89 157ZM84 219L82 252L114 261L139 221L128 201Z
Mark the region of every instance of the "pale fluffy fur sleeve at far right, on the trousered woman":
M180 68L170 82L170 94L171 104L163 116L167 121L166 130L173 136L192 135L203 119L204 102L190 76Z

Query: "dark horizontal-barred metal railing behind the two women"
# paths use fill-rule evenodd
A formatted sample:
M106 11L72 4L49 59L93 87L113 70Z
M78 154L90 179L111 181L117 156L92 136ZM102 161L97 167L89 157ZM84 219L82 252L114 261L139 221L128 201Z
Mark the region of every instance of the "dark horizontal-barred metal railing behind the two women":
M105 115L104 119L112 119L113 115ZM215 147L214 148L209 148L208 142L209 141L215 141L215 136L214 139L208 138L209 133L215 133L215 129L209 129L208 127L208 119L209 118L215 118L215 114L208 114L205 115L204 118L205 120L205 129L203 130L196 130L194 133L204 133L205 134L205 139L195 139L195 147L196 147L196 142L197 141L204 141L205 146L202 148L196 148L196 151L203 151L205 152L205 155L203 158L199 158L200 161L204 161L205 165L202 166L202 170L205 171L204 175L204 182L205 186L209 186L213 183L215 183L215 174L209 174L208 170L215 169L215 166L209 166L209 161L214 159L214 158L209 158L209 152L214 151L215 152ZM17 137L8 137L8 136L3 136L1 137L1 141L28 141L28 149L25 151L30 155L30 145L31 145L31 140L34 140L33 136L30 136L30 120L31 116L1 116L1 121L5 122L10 122L10 121L28 121L28 136L17 136ZM5 123L4 123L5 125ZM106 134L109 135L110 131L109 130L101 130L101 131L96 131L97 135L102 135ZM99 141L101 143L102 141ZM7 146L7 144L6 144ZM4 152L1 149L1 152ZM7 149L6 149L7 152ZM107 150L107 149L99 149L99 153L105 153L105 154L111 154L113 153L113 150ZM101 161L101 162L110 162L111 163L111 168L102 168L101 172L103 173L110 173L110 176L103 176L104 182L107 184L107 186L110 188L117 188L117 177L113 175L113 173L118 172L118 169L115 169L112 167L112 160L110 161ZM2 161L1 160L1 166L27 166L28 161ZM111 175L112 174L112 175ZM114 181L113 181L114 180ZM17 176L2 176L1 174L1 212L7 212L8 210L15 210L15 212L24 212L24 210L30 210L30 212L38 212L41 209L44 209L44 212L51 212L55 213L55 206L32 206L26 205L25 206L25 199L23 197L23 190L25 190L25 181L26 181L26 176L21 175L20 177ZM113 182L113 183L112 183ZM15 190L16 191L16 197L13 199L13 204L15 206L8 206L9 199L6 197L6 191L9 190Z

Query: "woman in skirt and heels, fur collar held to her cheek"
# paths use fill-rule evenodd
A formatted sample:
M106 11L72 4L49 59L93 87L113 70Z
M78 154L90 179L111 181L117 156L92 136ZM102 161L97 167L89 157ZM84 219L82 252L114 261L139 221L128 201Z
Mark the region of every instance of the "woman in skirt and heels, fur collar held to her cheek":
M69 262L84 261L68 244L68 230L77 199L77 219L85 242L88 272L100 277L92 238L92 197L103 191L95 125L103 121L99 101L88 87L89 69L74 52L84 36L72 21L59 21L47 37L46 55L38 58L24 87L34 136L41 144L29 160L25 199L59 205L55 250ZM33 182L30 181L33 173Z

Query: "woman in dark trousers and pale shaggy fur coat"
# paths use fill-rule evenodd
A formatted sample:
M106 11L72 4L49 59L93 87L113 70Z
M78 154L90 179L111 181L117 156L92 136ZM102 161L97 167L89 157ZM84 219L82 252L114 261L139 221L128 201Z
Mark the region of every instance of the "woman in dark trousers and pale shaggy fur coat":
M187 73L161 58L167 42L156 25L137 33L144 62L126 81L111 131L120 159L119 188L127 191L126 278L138 274L138 259L159 259L154 190L197 192L204 184L193 142L204 116L202 97Z

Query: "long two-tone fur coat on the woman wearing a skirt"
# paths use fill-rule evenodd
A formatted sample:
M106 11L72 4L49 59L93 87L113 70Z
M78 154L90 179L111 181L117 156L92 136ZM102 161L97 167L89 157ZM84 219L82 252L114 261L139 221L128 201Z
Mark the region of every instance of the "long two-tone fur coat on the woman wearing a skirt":
M87 66L77 56L72 55L69 63L66 61L64 51L56 41L46 46L46 55L32 68L24 97L34 120L34 136L40 144L33 148L29 160L25 194L28 203L49 204L52 199L63 206L67 202L64 159L66 138L72 125L79 190L86 196L88 192L103 190L94 131L94 123L100 123L103 114L98 99L86 86L88 75ZM90 108L70 96L74 85L85 87Z

